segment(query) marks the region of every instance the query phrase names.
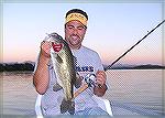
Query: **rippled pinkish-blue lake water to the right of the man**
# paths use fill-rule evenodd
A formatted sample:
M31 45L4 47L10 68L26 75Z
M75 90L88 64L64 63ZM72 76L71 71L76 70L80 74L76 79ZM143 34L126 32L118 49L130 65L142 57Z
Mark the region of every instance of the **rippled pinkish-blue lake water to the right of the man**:
M109 71L105 98L111 100L113 114L163 115L163 74L161 69Z

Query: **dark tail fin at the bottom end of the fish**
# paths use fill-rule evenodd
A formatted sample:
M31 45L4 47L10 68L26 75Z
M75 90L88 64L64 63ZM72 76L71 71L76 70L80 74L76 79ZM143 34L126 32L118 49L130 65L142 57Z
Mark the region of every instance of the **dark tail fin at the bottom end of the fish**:
M74 101L63 99L62 105L61 105L61 112L65 114L66 111L68 111L70 115L75 114L75 103Z

